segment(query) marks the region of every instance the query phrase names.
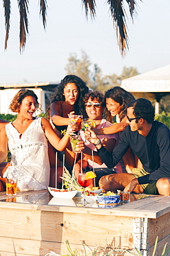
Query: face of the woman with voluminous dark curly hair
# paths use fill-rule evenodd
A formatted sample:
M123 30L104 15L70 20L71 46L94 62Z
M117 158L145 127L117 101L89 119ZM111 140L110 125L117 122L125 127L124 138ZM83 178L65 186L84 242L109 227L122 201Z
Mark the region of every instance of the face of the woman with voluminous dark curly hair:
M74 105L78 100L78 88L74 83L68 83L65 85L64 93L65 102L68 102L70 105Z

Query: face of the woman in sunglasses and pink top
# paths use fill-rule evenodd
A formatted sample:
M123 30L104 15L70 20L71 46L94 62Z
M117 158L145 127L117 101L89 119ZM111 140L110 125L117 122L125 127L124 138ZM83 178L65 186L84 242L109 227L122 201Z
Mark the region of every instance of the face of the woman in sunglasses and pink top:
M100 102L98 102L98 100L94 99L94 100L91 100L91 98L89 98L86 102L87 104L88 103L91 103L92 106L91 107L87 107L85 106L85 111L87 113L87 116L90 118L90 119L93 119L93 120L101 120L102 119L102 114L103 114L103 107L102 105L100 104ZM99 103L100 104L100 107L95 107L95 104L94 103Z

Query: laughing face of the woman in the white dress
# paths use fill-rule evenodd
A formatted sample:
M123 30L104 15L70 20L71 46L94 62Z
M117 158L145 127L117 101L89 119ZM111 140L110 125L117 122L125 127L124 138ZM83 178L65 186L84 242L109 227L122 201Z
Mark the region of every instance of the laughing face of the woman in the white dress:
M36 99L32 96L26 96L20 106L19 114L25 118L32 119L33 113L36 111Z

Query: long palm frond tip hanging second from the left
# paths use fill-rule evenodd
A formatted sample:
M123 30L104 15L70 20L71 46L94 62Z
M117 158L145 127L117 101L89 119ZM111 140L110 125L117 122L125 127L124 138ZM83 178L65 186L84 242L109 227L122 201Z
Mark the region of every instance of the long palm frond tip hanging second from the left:
M20 46L19 49L21 51L21 48L24 49L25 43L26 43L26 35L28 33L28 0L18 0L19 4L19 15L20 15L20 21L19 21L19 39L20 39Z

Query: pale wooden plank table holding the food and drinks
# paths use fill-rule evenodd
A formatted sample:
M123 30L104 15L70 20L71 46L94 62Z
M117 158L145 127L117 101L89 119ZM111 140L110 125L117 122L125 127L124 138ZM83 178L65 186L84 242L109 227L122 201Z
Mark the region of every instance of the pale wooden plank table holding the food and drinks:
M147 195L137 200L139 197L131 194L131 202L105 209L92 203L77 207L78 198L61 205L64 203L52 199L47 191L18 192L13 199L1 192L0 255L45 256L50 250L68 254L67 239L72 249L83 249L83 243L104 250L107 244L108 250L132 251L136 247L147 256L157 235L160 254L166 242L170 246L170 196ZM131 254L122 251L115 255Z

